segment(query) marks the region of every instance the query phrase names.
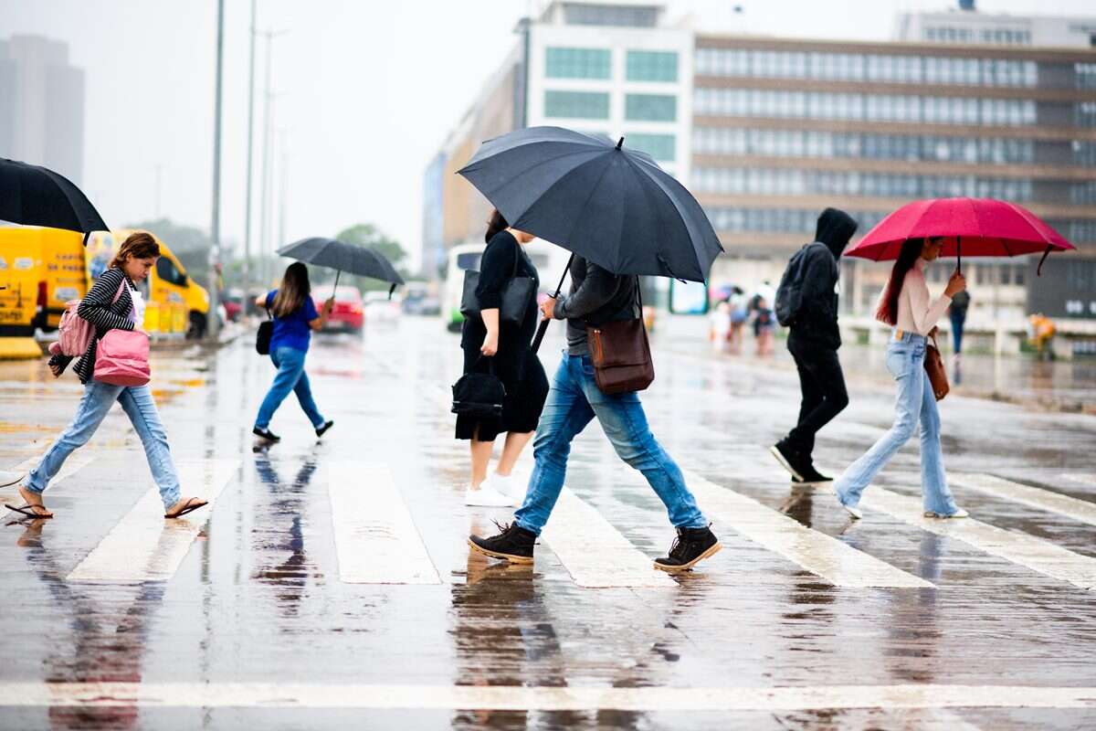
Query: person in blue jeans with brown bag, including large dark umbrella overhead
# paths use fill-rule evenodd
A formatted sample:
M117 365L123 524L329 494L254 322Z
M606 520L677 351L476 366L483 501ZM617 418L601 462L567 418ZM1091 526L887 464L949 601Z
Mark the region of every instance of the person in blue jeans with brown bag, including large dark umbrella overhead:
M651 433L637 391L653 379L639 275L704 282L722 248L688 191L623 144L530 127L486 142L460 171L514 227L573 252L570 294L560 297L561 278L541 305L535 341L550 320L567 320L567 350L534 442L536 466L514 522L495 536L469 537L470 548L486 556L533 562L563 488L571 442L595 418L677 530L654 568L687 571L720 549L681 469Z

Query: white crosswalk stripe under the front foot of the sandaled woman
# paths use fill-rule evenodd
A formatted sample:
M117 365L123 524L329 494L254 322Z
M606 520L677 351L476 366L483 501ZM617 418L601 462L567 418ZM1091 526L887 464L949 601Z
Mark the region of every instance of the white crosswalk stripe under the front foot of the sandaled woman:
M174 575L240 462L214 459L180 462L176 467L183 494L208 500L209 505L168 521L163 517L160 492L149 489L66 581L125 584L167 581Z

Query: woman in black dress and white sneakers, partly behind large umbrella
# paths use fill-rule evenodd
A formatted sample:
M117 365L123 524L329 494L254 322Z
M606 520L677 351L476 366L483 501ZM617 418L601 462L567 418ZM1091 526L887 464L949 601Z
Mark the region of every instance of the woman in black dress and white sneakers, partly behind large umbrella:
M465 320L460 347L465 352L465 373L489 373L493 364L494 375L506 388L506 397L500 416L458 415L457 438L471 441L471 480L465 504L501 507L518 505L525 495L525 484L514 479L513 469L537 429L548 397L548 377L530 347L539 319L536 298L529 298L521 324L500 324L499 320L502 292L511 278L532 277L539 286L537 269L523 249L534 237L510 228L502 214L494 210L484 238L488 243L476 288L481 317ZM502 432L506 433L502 456L494 475L488 479L487 466L494 439Z

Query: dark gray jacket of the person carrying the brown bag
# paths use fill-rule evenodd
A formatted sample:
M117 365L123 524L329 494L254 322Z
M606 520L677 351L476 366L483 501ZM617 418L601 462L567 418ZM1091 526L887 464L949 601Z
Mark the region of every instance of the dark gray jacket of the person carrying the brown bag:
M639 278L613 274L575 254L571 261L571 294L556 301L552 317L567 320L567 352L586 355L586 325L633 320L639 311Z

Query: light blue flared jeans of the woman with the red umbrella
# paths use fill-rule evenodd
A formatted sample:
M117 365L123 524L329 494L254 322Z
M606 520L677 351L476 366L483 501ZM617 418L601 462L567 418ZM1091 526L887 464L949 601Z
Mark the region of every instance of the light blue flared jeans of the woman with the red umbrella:
M921 422L921 492L925 510L950 515L957 507L944 475L940 412L925 373L925 339L912 333L903 333L901 340L891 335L887 346L887 369L898 381L894 424L837 478L833 486L837 499L845 505L860 502L865 488L910 441Z

